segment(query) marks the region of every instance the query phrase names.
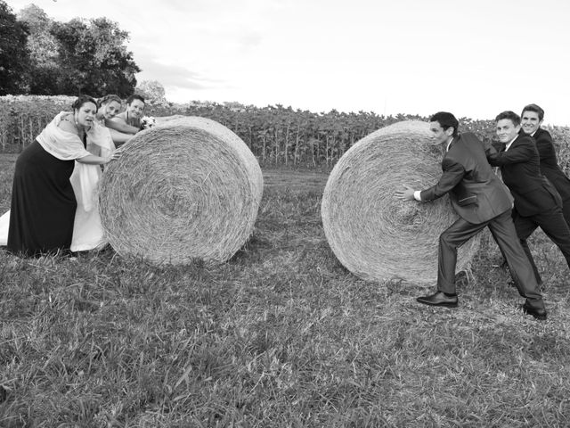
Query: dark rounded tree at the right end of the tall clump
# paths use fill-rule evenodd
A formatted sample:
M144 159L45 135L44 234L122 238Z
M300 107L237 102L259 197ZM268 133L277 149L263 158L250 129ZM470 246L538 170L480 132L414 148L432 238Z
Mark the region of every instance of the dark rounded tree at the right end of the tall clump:
M126 50L128 32L106 18L55 22L51 32L59 43L61 94L126 97L134 92L141 71Z

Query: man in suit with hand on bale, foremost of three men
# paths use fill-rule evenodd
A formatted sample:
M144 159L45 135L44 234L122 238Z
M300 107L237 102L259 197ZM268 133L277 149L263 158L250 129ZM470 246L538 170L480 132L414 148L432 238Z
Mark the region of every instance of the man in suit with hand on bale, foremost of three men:
M432 306L456 307L455 287L457 249L469 238L488 226L493 238L507 259L518 292L525 297L525 313L546 319L546 309L533 269L525 256L513 220L512 197L495 176L485 157L485 147L471 133L459 134L459 122L452 113L440 111L429 124L436 143L445 148L443 174L436 185L415 191L408 185L396 191L404 201L433 201L449 194L453 209L460 216L439 237L437 291L419 297L418 301Z

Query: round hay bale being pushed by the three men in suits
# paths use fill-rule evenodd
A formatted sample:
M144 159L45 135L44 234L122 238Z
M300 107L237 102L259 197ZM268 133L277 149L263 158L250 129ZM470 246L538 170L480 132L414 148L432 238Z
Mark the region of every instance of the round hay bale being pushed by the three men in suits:
M395 191L416 190L441 177L441 146L427 122L398 122L354 144L330 173L322 196L322 225L338 260L370 281L402 279L435 284L439 235L457 218L445 195L403 202ZM472 238L459 251L457 271L478 249Z

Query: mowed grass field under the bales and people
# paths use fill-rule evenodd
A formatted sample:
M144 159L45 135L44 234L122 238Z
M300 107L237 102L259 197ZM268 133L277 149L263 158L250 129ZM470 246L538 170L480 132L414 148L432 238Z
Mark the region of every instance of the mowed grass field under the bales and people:
M547 322L517 309L488 234L460 308L433 309L339 264L325 173L264 174L255 233L220 266L0 250L0 426L570 426L568 270L544 235Z

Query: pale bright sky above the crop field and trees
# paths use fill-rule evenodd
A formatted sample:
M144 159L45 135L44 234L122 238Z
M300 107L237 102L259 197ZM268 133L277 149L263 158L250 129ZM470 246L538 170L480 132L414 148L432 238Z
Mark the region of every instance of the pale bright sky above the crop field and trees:
M55 21L107 17L168 101L570 126L567 0L6 0Z

